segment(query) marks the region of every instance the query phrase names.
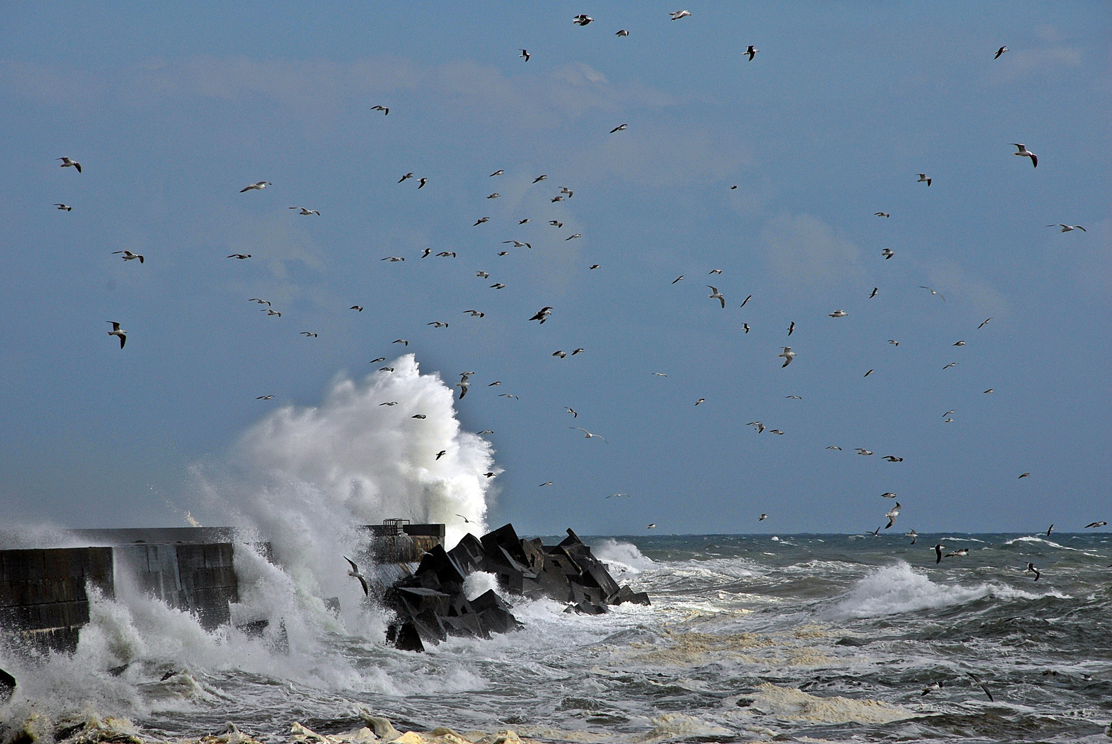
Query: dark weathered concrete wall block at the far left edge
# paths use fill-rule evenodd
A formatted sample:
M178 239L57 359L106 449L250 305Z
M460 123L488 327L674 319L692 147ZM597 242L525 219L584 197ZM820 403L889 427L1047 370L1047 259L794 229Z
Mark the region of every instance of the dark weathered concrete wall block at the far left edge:
M37 649L73 651L89 622L91 584L112 595L111 547L0 551L0 632Z

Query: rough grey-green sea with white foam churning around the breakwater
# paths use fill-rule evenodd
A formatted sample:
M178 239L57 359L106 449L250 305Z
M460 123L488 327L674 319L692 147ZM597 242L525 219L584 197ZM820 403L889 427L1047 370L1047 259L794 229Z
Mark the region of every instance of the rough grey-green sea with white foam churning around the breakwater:
M652 605L587 616L506 596L523 630L413 653L385 644L388 619L361 592L336 617L297 576L261 564L240 582L271 600L262 637L206 632L139 593L98 597L75 654L0 652L19 681L0 707L3 738L48 742L59 721L86 720L126 730L101 741L196 740L230 722L262 742L291 741L295 723L340 742L368 715L426 740L447 727L486 742L1112 735L1106 533L584 541ZM936 563L935 544L967 555ZM493 585L476 574L467 591Z

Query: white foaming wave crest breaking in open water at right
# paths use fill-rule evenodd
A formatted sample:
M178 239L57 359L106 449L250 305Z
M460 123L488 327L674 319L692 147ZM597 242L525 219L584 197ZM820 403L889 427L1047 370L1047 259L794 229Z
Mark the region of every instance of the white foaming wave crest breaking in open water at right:
M876 617L965 604L986 596L1034 600L1039 595L991 582L974 586L936 584L900 561L860 579L830 612L841 617Z

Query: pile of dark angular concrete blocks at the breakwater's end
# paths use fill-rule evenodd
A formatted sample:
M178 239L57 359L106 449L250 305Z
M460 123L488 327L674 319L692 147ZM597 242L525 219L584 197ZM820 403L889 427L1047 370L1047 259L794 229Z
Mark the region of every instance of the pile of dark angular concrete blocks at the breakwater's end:
M383 601L397 614L387 641L398 649L424 651L425 643L449 635L486 639L522 627L494 590L467 599L464 581L476 571L497 576L506 593L566 602L565 612L599 615L613 604L649 604L645 592L618 586L572 530L558 545L545 545L539 537L518 537L514 525L506 524L481 537L467 534L450 551L434 546L411 575L386 590Z

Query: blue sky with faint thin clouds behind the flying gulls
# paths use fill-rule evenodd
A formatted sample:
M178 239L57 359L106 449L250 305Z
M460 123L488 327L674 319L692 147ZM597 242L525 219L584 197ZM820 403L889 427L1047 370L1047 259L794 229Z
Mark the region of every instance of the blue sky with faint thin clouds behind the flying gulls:
M218 522L199 469L403 352L475 371L492 526L1112 521L1112 8L684 8L6 3L3 521Z

